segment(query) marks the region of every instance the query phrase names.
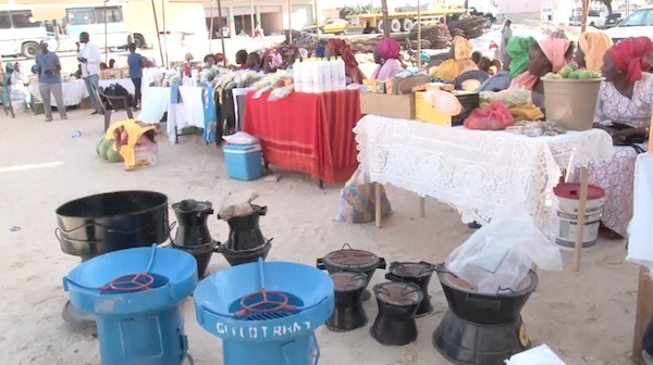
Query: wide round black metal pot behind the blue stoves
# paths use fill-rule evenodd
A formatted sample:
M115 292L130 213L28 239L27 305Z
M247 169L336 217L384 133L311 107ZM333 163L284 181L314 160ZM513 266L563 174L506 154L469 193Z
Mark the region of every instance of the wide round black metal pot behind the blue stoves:
M115 191L70 201L56 211L54 234L65 253L96 255L163 243L170 232L168 197L155 191Z

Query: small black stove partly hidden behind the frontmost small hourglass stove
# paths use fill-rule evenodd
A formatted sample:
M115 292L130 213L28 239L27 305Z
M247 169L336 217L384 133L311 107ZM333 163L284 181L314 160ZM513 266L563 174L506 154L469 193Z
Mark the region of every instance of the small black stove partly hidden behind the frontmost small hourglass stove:
M419 287L423 293L423 299L417 309L416 316L423 316L431 313L431 297L429 295L429 282L431 275L435 270L435 265L427 262L393 262L390 264L389 273L385 278L392 281L412 282Z

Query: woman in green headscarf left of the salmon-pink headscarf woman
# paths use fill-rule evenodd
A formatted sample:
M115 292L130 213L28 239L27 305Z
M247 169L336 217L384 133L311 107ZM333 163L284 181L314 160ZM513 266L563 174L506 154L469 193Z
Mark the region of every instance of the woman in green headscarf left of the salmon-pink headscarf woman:
M535 38L530 36L510 37L506 45L507 55L504 60L503 70L481 84L476 91L502 91L510 87L513 77L519 76L526 71L528 52L534 43L537 43Z

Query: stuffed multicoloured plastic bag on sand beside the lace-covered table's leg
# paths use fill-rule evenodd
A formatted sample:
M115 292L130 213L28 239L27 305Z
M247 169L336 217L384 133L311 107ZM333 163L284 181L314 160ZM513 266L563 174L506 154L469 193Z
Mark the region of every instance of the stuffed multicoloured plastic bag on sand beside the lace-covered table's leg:
M374 184L365 182L362 173L357 169L341 190L340 213L336 222L367 223L375 218ZM385 189L381 187L381 215L392 212Z

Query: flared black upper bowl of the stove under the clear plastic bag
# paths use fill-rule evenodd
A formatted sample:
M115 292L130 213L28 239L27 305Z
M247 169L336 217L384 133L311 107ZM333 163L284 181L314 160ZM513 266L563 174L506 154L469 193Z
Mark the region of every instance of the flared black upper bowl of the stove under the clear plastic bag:
M500 290L496 294L479 293L469 282L436 265L438 278L449 310L465 320L497 325L515 320L530 294L538 287L538 275L529 270L517 288Z

